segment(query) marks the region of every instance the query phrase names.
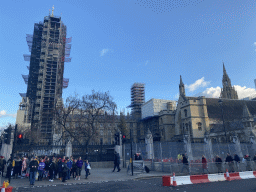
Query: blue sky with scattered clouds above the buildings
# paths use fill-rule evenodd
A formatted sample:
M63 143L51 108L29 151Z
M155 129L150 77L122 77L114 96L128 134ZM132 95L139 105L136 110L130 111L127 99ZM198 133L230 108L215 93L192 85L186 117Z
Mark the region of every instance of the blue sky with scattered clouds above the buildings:
M10 0L0 7L0 127L15 123L27 90L26 34L53 5L72 37L64 99L109 91L121 109L142 82L146 100L177 100L180 75L188 96L219 97L222 62L240 98L256 93L255 0Z

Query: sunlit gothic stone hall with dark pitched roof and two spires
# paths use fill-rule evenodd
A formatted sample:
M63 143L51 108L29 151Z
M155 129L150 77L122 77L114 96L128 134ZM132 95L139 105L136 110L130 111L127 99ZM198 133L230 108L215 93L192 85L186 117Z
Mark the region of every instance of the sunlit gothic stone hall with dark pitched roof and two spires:
M255 135L253 117L256 115L256 102L238 100L224 64L222 83L221 100L187 97L180 77L180 96L172 140L181 141L184 135L190 135L193 142L202 142L205 135L208 135L213 142L230 142L233 136L238 136L241 142L248 142Z

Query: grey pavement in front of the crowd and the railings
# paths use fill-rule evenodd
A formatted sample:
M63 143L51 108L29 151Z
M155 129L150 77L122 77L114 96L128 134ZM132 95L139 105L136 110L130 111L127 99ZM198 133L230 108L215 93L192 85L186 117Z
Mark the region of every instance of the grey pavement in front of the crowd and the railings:
M73 176L71 176L70 180L67 180L65 183L60 181L59 179L55 179L53 182L50 182L48 179L43 179L42 181L35 181L35 186L53 186L53 185L69 185L69 184L86 184L86 183L102 183L109 181L128 181L133 179L146 179L146 178L154 178L154 177L162 177L166 175L163 172L150 171L149 173L134 173L133 176L128 175L126 168L121 169L120 172L112 172L111 168L94 168L91 169L91 175L88 176L88 179L85 179L85 171L82 170L81 180L74 180ZM1 178L0 183L3 181L7 181L6 178ZM10 186L14 188L24 188L29 187L29 179L28 178L18 178L11 179Z

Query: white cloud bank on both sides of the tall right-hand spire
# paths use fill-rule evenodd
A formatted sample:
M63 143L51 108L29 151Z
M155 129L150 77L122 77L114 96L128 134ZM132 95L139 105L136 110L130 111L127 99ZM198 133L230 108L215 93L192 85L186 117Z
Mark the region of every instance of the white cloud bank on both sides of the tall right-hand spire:
M245 97L250 97L252 95L256 95L256 90L253 88L246 88L241 87L240 85L234 85L235 90L237 91L238 98L243 99ZM196 94L195 96L205 96L208 98L219 98L220 97L221 88L217 87L210 87L204 90L201 93ZM256 97L256 96L255 96Z

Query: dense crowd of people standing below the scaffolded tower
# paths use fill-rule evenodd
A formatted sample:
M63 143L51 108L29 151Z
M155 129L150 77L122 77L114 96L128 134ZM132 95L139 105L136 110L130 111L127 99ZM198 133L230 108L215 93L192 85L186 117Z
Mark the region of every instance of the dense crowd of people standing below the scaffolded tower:
M88 160L83 161L81 157L78 159L73 157L49 158L47 155L43 157L32 156L17 157L14 160L11 158L6 162L3 156L0 157L0 170L2 176L5 167L7 167L6 178L24 178L29 177L30 185L34 185L35 180L42 181L49 179L53 182L54 179L66 182L72 176L75 180L81 179L82 167L85 167L85 179L90 175L91 165Z

